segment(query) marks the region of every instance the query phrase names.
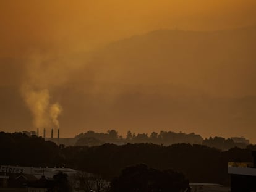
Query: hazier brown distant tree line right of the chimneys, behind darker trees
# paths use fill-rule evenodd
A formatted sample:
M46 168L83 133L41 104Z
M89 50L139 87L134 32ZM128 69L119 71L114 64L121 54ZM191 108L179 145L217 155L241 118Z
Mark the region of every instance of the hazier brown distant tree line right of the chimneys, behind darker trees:
M221 149L226 151L228 149L239 147L246 148L247 143L236 143L231 138L221 138L215 136L214 138L205 138L195 133L174 133L172 131L160 131L160 133L153 132L148 136L147 133L132 133L127 132L125 138L118 135L116 130L108 130L107 133L96 133L94 131L87 131L75 136L77 142L75 146L100 146L105 143L113 143L117 145L127 143L153 143L164 146L169 146L176 143L189 143L189 144L203 144L205 146Z

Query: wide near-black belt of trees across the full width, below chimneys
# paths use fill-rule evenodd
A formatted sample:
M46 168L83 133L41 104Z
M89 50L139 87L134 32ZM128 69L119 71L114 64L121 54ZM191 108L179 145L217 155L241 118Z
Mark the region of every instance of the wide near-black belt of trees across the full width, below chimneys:
M0 133L0 163L33 167L70 167L111 180L125 167L146 164L152 169L182 172L190 182L228 183L228 162L252 162L255 146L221 151L199 144L163 146L152 143L57 146L41 137Z

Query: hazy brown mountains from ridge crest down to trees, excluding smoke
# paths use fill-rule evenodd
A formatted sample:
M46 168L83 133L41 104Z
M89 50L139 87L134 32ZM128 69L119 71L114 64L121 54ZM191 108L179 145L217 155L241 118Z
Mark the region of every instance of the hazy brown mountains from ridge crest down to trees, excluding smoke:
M255 143L255 47L256 27L157 30L111 43L83 59L64 85L49 88L63 107L61 133L166 130ZM2 130L33 126L18 89L0 88Z

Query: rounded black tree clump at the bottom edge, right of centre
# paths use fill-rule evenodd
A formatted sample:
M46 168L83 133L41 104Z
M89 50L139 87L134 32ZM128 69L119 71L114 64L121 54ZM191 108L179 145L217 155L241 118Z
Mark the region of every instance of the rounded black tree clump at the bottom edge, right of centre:
M111 182L111 192L179 192L189 188L189 181L182 173L173 170L157 170L140 164L122 170Z

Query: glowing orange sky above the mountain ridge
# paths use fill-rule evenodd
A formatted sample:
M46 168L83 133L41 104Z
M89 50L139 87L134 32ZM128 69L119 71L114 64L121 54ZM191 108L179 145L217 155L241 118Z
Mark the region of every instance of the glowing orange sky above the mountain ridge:
M0 2L1 55L67 46L90 50L161 28L220 30L256 23L254 0Z

